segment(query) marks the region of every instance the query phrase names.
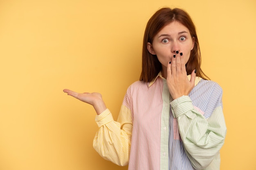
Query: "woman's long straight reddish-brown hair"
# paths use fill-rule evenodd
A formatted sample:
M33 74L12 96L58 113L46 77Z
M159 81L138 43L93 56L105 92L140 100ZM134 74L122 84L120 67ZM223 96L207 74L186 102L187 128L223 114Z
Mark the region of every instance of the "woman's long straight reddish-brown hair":
M152 44L155 35L166 25L171 22L177 21L189 29L190 35L194 38L195 44L191 50L190 57L186 63L187 75L196 69L196 75L209 79L201 69L201 51L198 42L198 36L196 34L195 25L191 17L186 11L175 8L162 8L159 9L149 20L145 29L143 47L142 47L142 71L140 80L144 82L152 81L157 74L162 70L162 65L157 59L156 55L150 54L147 48L148 42Z

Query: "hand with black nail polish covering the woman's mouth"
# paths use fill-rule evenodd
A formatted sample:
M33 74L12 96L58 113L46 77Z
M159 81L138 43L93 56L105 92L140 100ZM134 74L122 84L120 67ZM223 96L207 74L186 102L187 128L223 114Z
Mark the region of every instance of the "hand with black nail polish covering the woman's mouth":
M189 81L184 59L179 54L175 54L176 57L172 57L171 63L167 66L167 85L169 92L173 100L183 95L189 95L193 87L195 86L195 70L191 73L191 79Z

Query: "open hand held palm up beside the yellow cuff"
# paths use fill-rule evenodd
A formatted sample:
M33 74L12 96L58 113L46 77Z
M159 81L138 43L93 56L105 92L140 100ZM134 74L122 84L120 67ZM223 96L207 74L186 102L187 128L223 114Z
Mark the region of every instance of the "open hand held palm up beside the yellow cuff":
M98 115L107 109L100 93L77 93L69 89L64 89L63 92L67 93L67 95L79 99L80 101L92 105Z

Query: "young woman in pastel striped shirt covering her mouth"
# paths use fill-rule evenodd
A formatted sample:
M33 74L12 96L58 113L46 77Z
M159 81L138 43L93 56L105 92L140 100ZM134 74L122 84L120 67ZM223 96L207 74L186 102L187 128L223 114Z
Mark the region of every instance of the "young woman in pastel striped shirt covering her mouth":
M129 170L217 170L226 136L222 89L200 63L190 16L162 8L146 26L140 81L128 88L117 121L101 94L64 92L96 110L93 146L103 158Z

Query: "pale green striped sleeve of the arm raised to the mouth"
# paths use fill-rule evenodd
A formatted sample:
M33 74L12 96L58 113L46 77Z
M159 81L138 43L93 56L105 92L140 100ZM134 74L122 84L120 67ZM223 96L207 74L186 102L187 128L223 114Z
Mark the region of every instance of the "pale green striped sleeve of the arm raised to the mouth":
M185 152L197 170L207 168L218 157L224 144L227 128L222 112L222 90L218 100L215 103L219 104L207 119L193 107L189 96L182 96L171 102Z

